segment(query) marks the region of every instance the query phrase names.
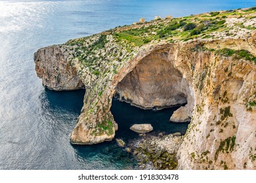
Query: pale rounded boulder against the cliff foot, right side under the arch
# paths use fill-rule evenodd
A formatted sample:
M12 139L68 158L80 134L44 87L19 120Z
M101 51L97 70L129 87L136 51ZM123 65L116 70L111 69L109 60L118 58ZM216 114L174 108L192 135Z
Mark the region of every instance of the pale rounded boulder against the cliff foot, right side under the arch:
M186 106L180 107L175 112L173 112L173 115L171 115L170 122L190 122L191 120L191 112L188 111L188 108Z

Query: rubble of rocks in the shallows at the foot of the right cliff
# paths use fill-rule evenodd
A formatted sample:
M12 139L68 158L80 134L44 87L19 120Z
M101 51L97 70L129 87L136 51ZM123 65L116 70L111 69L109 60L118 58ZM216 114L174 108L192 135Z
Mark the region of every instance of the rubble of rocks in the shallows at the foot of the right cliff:
M146 170L173 170L177 169L177 152L181 146L181 133L163 135L143 134L138 139L129 141L125 151L132 153L139 162L139 169ZM117 144L119 144L118 139Z

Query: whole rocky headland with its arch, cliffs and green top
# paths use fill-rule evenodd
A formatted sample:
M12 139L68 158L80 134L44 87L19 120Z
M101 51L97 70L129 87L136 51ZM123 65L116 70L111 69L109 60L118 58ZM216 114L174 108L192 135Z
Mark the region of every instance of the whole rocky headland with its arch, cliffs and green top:
M117 95L140 108L185 105L171 117L191 120L179 169L256 169L255 17L246 8L117 27L41 48L35 69L49 89L85 87L73 144L114 139Z

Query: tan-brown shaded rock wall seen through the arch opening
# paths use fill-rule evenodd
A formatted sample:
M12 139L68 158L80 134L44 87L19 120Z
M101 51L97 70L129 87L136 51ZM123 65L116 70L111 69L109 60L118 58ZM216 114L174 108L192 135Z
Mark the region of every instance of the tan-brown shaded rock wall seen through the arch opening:
M142 60L116 86L115 97L136 107L160 110L188 103L189 86L175 69L168 52L157 51Z

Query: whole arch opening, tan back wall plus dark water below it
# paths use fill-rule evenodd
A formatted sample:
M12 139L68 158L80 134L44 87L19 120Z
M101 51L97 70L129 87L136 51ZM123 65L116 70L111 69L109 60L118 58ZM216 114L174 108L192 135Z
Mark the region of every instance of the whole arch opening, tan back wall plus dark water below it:
M154 123L155 126L162 125L163 129L169 129L168 133L181 131L184 134L188 123L171 124L169 119L175 110L186 105L188 101L191 101L191 97L186 79L175 69L168 58L168 52L158 50L141 59L117 84L111 111L121 133L126 131L120 129L123 123L130 126Z

